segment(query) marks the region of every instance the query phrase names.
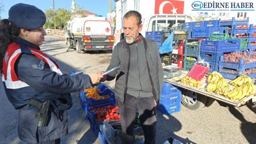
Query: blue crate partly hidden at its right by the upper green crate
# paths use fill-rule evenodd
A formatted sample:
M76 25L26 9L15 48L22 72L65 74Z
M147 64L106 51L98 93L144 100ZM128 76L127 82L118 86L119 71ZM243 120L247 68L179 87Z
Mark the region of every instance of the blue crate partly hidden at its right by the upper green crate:
M223 27L201 27L191 30L191 38L210 38L213 33L223 33Z

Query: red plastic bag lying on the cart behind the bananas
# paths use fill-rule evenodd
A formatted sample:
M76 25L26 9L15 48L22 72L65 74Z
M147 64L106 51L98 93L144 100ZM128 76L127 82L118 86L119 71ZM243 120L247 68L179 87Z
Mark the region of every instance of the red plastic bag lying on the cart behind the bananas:
M191 77L192 79L201 81L206 73L208 73L210 69L210 65L208 62L204 62L204 60L201 60L199 58L199 62L196 62L194 66L189 70L187 76Z

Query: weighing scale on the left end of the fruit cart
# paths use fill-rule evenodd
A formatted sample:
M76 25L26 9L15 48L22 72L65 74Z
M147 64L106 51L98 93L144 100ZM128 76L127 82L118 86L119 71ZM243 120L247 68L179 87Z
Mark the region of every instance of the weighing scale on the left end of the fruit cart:
M167 65L163 67L163 78L170 79L182 75L178 66Z

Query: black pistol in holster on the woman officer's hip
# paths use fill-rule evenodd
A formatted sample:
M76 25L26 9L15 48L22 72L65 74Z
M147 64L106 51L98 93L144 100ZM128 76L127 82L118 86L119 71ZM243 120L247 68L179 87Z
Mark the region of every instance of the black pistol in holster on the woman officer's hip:
M46 126L50 104L51 104L50 100L45 100L44 102L41 102L35 97L32 97L29 100L29 105L37 107L37 111L35 112L35 118L39 119L38 127Z

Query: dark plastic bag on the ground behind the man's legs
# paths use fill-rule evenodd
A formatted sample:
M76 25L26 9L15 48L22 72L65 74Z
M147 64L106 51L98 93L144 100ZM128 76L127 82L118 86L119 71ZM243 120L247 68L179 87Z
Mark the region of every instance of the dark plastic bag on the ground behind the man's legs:
M122 143L122 130L117 130L121 127L120 120L105 120L103 131L105 139L110 144L121 144ZM142 127L136 127L133 129L134 144L144 144L144 132Z

